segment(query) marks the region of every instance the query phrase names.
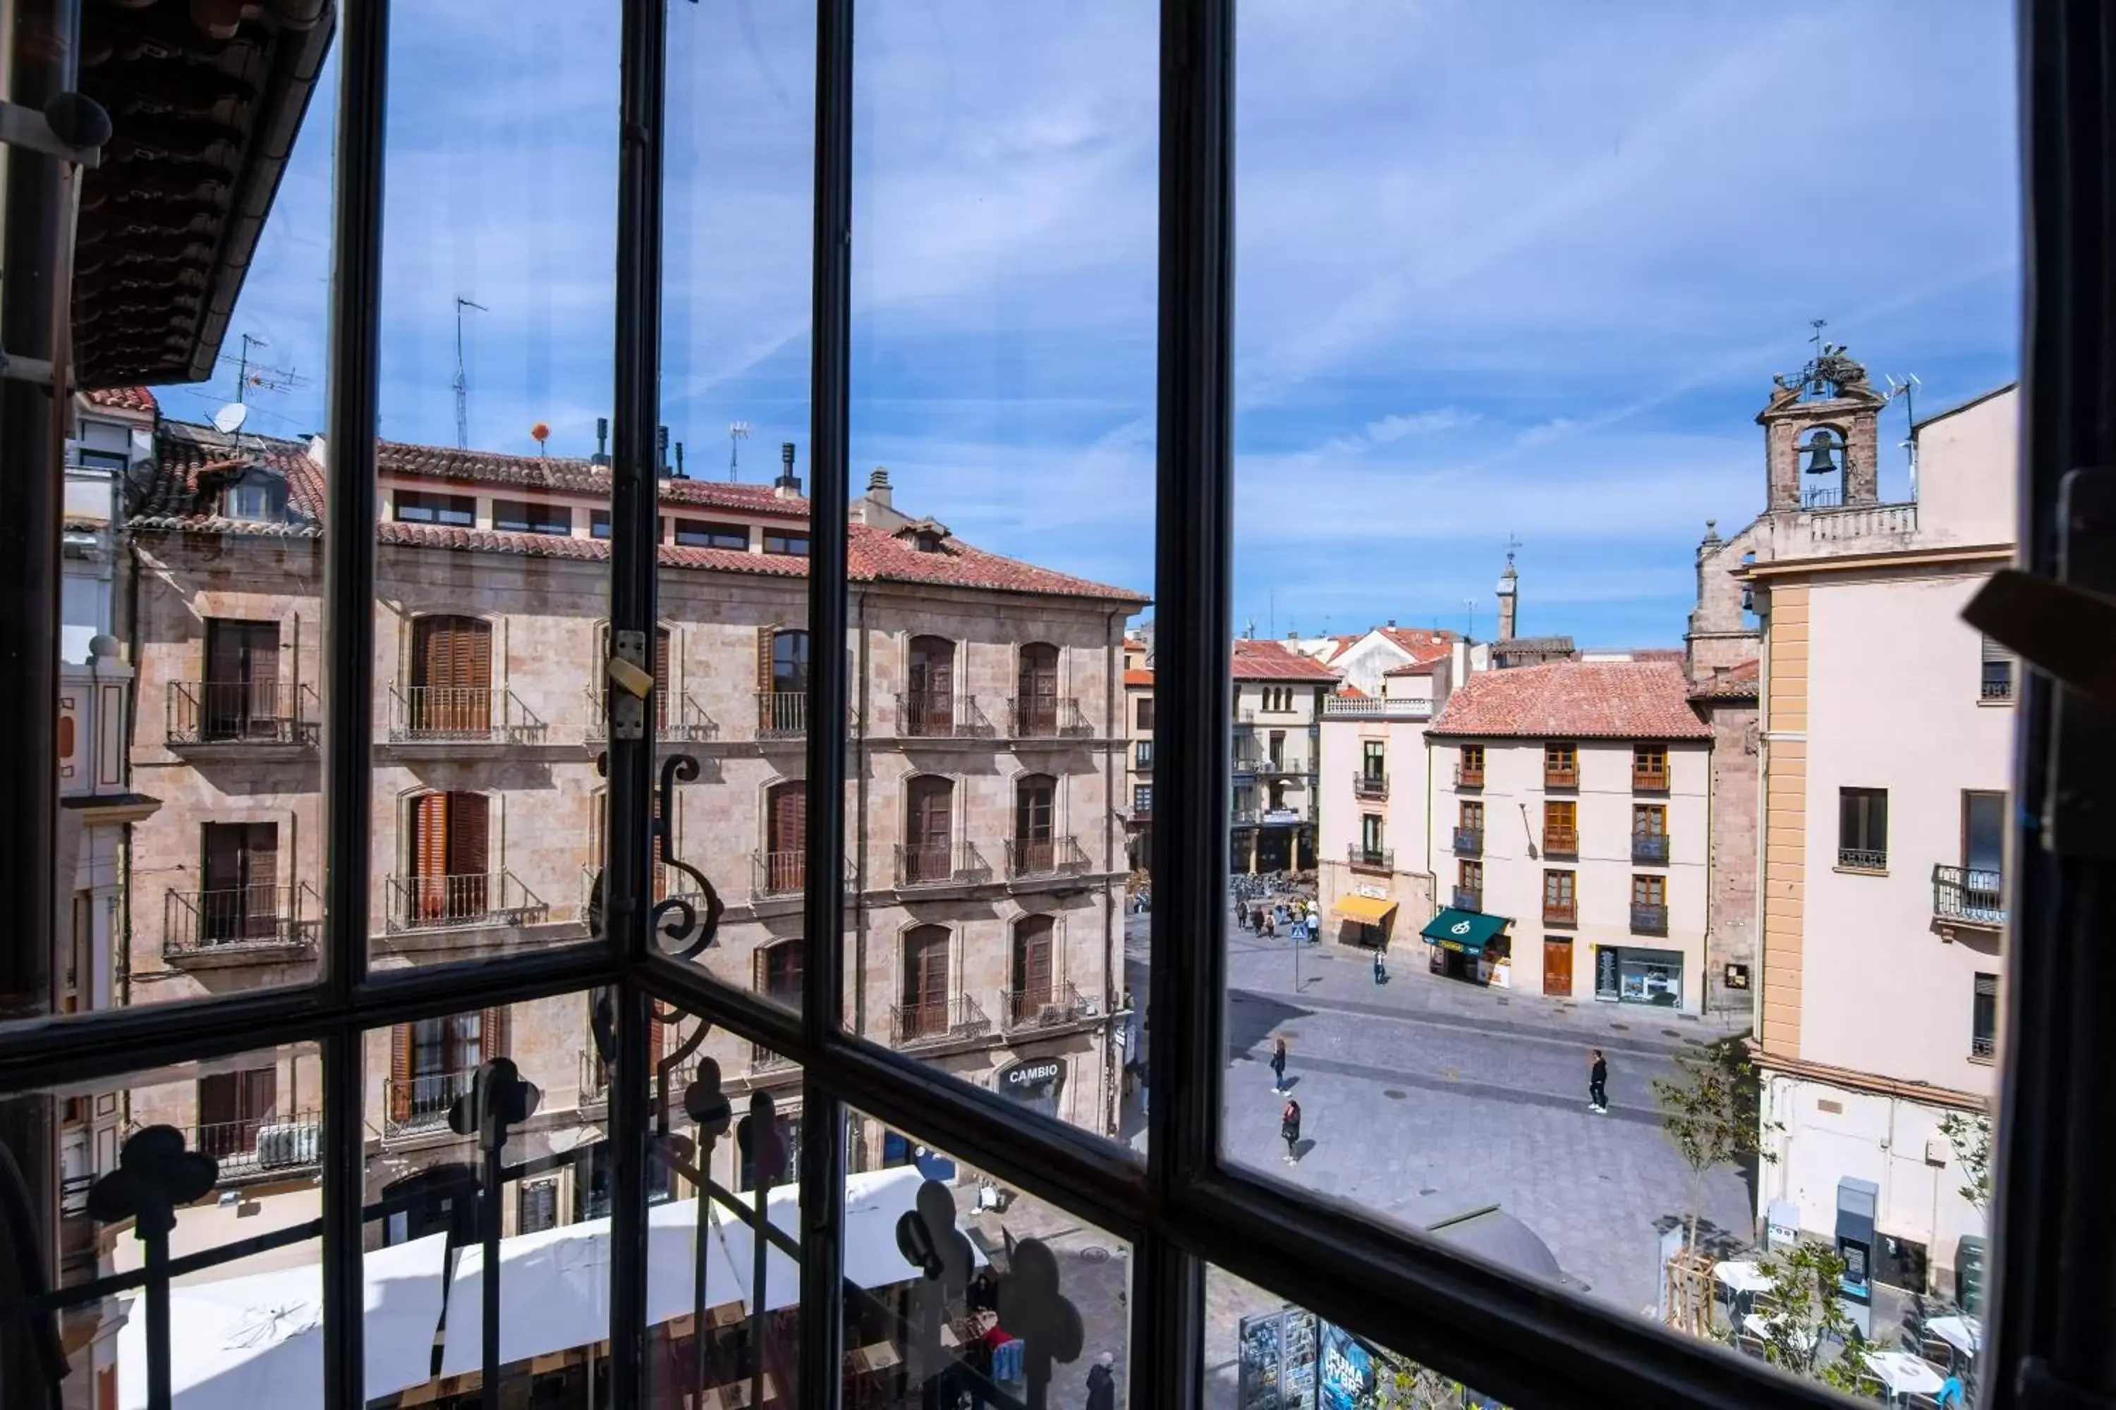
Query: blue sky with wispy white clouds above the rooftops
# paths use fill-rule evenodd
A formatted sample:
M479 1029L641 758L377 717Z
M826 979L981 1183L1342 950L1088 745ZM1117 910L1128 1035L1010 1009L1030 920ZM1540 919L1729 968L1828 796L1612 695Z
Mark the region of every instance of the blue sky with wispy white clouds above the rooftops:
M1155 4L859 15L853 467L963 537L1151 590ZM423 0L391 55L381 431L592 448L616 6ZM1236 617L1674 643L1807 321L1919 408L2019 366L2010 6L1246 0ZM813 6L671 4L664 419L743 478L808 421ZM235 332L324 406L334 66ZM229 340L233 353L235 338ZM233 378L163 395L203 416ZM1902 493L1902 408L1883 493Z

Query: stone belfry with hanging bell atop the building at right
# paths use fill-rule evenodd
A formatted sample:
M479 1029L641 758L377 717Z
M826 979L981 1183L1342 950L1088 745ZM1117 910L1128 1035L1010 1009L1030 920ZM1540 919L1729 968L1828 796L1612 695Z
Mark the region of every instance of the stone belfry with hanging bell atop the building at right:
M1799 374L1773 378L1756 412L1769 467L1771 514L1881 501L1879 416L1887 397L1841 342L1822 342Z

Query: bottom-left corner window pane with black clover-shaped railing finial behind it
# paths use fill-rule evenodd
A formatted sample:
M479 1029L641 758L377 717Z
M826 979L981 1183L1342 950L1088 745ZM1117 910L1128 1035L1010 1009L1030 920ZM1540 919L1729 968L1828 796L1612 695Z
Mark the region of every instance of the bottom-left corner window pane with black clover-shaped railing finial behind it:
M8 1169L11 1228L34 1228L57 1262L36 1258L61 1292L57 1317L38 1325L21 1306L15 1245L0 1281L6 1378L34 1404L42 1372L49 1404L144 1406L148 1313L167 1306L165 1368L176 1404L241 1404L262 1378L275 1404L322 1404L322 1059L309 1044L256 1049L209 1063L178 1063L102 1082L11 1095L0 1101L0 1156ZM123 1167L123 1169L121 1169ZM163 1230L142 1216L142 1194L174 1205ZM15 1196L23 1199L15 1199ZM15 1218L28 1224L15 1224ZM11 1239L13 1243L13 1239ZM440 1249L398 1264L400 1309L427 1325L440 1313ZM184 1260L174 1279L148 1264ZM91 1283L123 1279L89 1292ZM42 1363L38 1340L63 1353ZM423 1380L387 1351L370 1385ZM222 1399L231 1397L231 1399Z

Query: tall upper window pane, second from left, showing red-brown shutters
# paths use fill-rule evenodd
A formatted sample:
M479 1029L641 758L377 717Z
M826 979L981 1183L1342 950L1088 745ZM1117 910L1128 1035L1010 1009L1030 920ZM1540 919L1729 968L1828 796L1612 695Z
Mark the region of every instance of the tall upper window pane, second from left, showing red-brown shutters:
M389 27L377 970L597 926L616 101L605 13L472 0Z

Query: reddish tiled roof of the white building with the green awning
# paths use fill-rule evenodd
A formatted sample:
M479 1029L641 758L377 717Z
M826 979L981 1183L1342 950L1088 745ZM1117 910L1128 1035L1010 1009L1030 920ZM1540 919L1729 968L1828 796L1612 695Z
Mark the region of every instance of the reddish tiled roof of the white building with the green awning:
M1691 683L1665 662L1551 662L1479 670L1433 723L1433 734L1543 740L1708 740Z

